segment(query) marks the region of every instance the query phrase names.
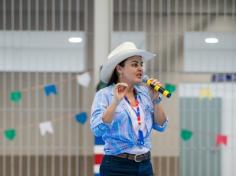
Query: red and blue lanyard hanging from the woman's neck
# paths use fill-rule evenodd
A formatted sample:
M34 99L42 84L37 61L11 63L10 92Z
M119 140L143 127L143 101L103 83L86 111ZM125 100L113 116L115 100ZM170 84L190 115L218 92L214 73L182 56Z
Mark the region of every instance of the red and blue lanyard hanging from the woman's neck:
M135 112L135 115L137 117L137 121L138 121L138 125L139 125L139 130L138 130L138 145L143 145L144 144L144 137L143 137L143 131L140 129L141 127L141 117L140 117L140 109L139 109L139 102L137 99L137 94L134 90L134 97L135 97L135 105L137 107L137 110L135 110L131 103L129 102L128 98L125 96L125 100L129 103L129 105L131 106L131 108L133 109L133 111Z

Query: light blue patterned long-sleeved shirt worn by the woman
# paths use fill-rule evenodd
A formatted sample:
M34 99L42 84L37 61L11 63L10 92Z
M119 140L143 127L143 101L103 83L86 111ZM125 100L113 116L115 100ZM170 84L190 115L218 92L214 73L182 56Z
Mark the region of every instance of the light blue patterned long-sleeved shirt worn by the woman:
M102 121L103 113L112 102L114 96L113 89L114 84L105 87L96 93L90 118L90 127L94 135L102 136L105 141L104 150L107 155L124 153L127 149L138 146L137 136L132 127L130 112L127 103L125 103L125 99L122 99L116 107L111 123L108 124ZM148 88L136 85L135 90L137 92L140 107L145 114L144 123L146 125L147 133L144 136L144 147L151 149L150 140L152 128L162 132L165 130L168 121L162 125L154 123L153 103Z

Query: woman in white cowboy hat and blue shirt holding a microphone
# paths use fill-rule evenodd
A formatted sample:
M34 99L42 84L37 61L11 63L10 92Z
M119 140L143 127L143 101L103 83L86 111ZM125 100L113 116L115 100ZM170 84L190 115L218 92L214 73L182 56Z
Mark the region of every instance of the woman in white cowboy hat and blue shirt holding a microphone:
M151 130L164 131L167 118L160 95L140 83L143 62L154 56L125 42L102 67L101 80L108 86L96 93L90 119L93 133L105 142L102 176L153 175Z

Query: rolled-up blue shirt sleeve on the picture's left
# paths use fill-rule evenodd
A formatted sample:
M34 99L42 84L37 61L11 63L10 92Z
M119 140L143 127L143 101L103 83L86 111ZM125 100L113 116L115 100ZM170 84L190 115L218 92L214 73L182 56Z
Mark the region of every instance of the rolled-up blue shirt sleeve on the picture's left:
M108 102L108 97L106 97L103 91L96 93L91 108L90 118L90 128L95 136L102 136L110 129L110 125L104 123L102 120L103 114L108 107Z

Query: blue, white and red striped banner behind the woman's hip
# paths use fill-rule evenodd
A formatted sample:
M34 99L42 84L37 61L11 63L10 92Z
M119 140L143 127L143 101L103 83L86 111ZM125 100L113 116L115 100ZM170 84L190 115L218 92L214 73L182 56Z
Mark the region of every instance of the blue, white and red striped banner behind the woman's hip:
M100 176L99 168L102 163L102 159L104 156L104 141L102 137L95 137L95 145L94 145L94 176Z

